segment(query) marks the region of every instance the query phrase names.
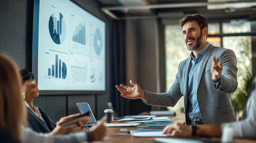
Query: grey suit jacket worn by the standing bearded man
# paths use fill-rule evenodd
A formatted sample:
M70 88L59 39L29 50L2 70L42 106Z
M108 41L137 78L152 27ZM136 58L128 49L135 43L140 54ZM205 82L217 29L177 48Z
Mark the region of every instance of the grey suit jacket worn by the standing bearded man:
M223 70L220 77L220 85L216 89L211 79L212 57L217 58L217 62L223 63ZM184 111L186 116L189 66L191 58L181 61L178 67L176 79L171 88L166 93L156 94L145 91L148 105L171 106L184 97ZM230 101L230 93L234 92L238 86L236 79L238 67L236 67L236 55L230 49L209 45L202 59L199 71L198 85L198 105L205 124L220 124L236 120L235 113Z

